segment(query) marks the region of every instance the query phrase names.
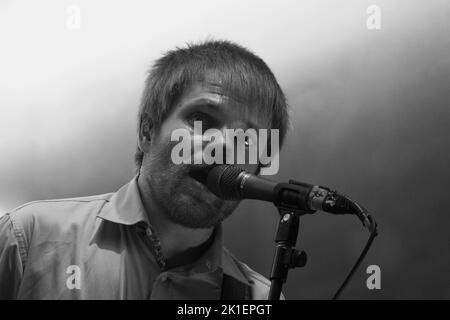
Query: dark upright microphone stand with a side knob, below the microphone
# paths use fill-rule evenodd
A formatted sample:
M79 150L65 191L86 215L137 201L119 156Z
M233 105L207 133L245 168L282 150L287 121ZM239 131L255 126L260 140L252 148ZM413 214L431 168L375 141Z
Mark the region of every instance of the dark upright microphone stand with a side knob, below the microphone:
M295 249L300 224L300 215L308 212L277 206L281 220L275 237L276 248L270 272L269 300L279 300L289 269L306 265L306 253Z

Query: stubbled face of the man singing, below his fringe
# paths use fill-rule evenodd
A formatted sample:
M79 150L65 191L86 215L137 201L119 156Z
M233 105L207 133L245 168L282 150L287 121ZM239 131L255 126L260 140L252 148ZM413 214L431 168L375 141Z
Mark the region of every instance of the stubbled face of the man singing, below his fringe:
M191 164L173 162L172 148L179 143L171 141L174 130L189 131L192 145L196 139L202 140L201 134L194 133L195 121L201 121L203 130L222 132L225 129L268 128L269 121L252 112L249 105L236 101L232 94L225 94L220 85L196 82L184 91L159 130L153 130L141 170L142 178L147 179L150 186L149 196L172 222L189 228L210 228L229 216L238 201L218 198L191 177L190 173L207 167L206 164L193 164L193 160ZM206 143L202 144L202 150ZM222 145L225 145L225 150L233 147L231 144ZM198 152L194 149L191 148L191 159ZM258 168L256 164L239 166L252 173Z

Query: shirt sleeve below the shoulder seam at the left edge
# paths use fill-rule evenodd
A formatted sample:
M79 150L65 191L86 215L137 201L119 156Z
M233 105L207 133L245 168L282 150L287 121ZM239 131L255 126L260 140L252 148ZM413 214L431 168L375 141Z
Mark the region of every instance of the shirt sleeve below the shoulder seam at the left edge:
M15 299L23 276L17 230L9 214L0 217L0 299Z

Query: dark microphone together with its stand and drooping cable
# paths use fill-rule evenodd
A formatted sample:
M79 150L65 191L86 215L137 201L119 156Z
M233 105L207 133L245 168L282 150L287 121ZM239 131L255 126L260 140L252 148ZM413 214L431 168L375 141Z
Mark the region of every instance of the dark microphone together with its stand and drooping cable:
M206 185L216 196L225 200L263 200L274 203L279 209L292 210L293 212L300 212L300 214L312 214L317 210L321 210L333 214L356 215L361 220L363 226L368 229L370 236L361 255L333 299L337 299L347 286L378 234L377 223L368 214L366 209L357 202L327 187L311 185L295 180L289 180L289 183L277 183L255 176L233 165L212 166L206 170L193 170L190 174L194 179ZM280 225L282 221L280 221ZM298 220L294 221L297 221L296 227L298 231ZM289 261L292 263L292 252L298 253L298 251L292 249L297 239L297 233L293 233L291 230L295 227L295 223L287 225L288 229L283 229L283 227L279 226L275 240L277 242L277 251L272 265L270 277L272 284L269 299L279 297L282 282L286 280L287 268L292 268L290 265L286 266L286 260L283 259L289 257ZM290 240L292 234L295 237L293 238L293 243L290 243L286 239ZM290 254L291 256L289 256ZM285 275L284 279L282 278L283 274Z

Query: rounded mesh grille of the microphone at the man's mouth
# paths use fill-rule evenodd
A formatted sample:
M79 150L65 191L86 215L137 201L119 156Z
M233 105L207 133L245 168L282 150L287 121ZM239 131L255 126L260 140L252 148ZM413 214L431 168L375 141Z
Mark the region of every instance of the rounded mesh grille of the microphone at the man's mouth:
M240 200L239 175L245 170L232 165L219 165L209 171L207 186L224 200Z

